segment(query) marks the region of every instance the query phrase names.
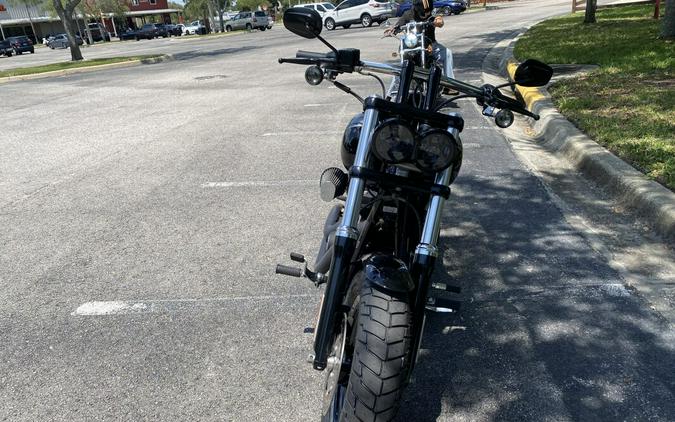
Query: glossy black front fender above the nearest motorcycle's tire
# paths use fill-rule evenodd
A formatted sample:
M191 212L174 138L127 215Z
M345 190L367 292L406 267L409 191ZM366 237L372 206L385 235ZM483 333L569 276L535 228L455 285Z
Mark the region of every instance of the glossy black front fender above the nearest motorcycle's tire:
M375 254L363 263L364 281L396 293L408 293L415 289L410 270L403 261L392 255Z

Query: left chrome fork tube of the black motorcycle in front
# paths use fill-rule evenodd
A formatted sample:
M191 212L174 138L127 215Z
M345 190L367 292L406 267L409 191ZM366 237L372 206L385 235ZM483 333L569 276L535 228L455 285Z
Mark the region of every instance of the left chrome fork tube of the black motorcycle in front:
M354 157L354 167L365 167L368 164L368 154L370 153L373 130L375 130L375 126L377 125L377 116L378 111L372 108L367 109L364 113L359 145ZM342 224L338 227L335 233L336 236L352 239L358 237L359 210L361 209L364 187L365 181L363 179L359 177L350 178Z

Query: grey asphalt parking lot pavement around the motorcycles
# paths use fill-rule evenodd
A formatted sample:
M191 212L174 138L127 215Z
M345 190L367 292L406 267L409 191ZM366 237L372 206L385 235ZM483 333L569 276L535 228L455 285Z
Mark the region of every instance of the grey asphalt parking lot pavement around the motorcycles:
M478 84L497 41L568 7L452 16L439 38ZM326 37L390 60L381 32ZM0 85L0 419L317 420L303 329L321 292L273 270L316 252L331 207L318 177L359 104L279 65L324 49L279 26L84 54L151 42L176 60ZM68 54L19 59L52 53ZM398 420L675 420L674 320L626 282L675 285L672 251L623 211L600 218L611 200L578 175L548 184L534 152L462 111L437 277L464 306L429 318ZM598 244L608 232L621 238Z

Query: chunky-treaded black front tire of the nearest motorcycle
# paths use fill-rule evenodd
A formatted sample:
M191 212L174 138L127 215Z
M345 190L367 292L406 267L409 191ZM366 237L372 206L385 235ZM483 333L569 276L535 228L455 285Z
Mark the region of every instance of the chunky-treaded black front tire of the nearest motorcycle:
M410 304L367 286L359 302L341 420L389 421L398 411L409 366Z

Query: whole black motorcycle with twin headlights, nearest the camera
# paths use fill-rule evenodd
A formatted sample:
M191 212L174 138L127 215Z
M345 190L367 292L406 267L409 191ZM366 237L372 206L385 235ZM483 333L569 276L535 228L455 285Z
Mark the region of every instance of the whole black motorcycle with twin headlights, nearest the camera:
M425 312L453 312L459 306L429 296L432 288L459 292L431 281L443 204L462 163L464 126L458 113L439 111L471 97L500 127L513 123L513 112L538 116L500 93L498 88L512 84L476 87L442 76L438 66L362 61L358 49L338 50L320 37L322 21L314 10L287 10L284 26L319 39L331 51L298 51L279 63L309 66L309 84L327 80L357 98L364 111L352 118L342 138L348 173L329 168L320 178L322 199L341 203L328 215L314 269L292 253L304 268L278 265L276 272L326 285L311 357L314 369L326 372L322 420L391 420L415 366ZM364 99L337 81L353 72L376 78L382 96ZM376 73L399 78L395 98L386 96ZM527 60L515 83L542 86L551 75L547 65ZM460 95L439 101L443 88Z

